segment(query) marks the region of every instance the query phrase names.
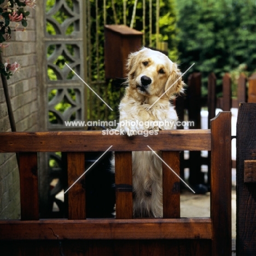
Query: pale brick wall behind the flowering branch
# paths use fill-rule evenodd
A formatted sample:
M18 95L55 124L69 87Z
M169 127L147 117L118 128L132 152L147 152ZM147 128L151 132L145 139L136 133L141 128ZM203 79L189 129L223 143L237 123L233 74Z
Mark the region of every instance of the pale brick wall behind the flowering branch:
M17 131L38 130L38 88L36 52L36 13L30 9L25 32L12 32L3 61L20 63L21 69L8 80ZM7 106L0 79L0 132L10 132ZM20 217L19 170L15 154L0 153L0 219Z

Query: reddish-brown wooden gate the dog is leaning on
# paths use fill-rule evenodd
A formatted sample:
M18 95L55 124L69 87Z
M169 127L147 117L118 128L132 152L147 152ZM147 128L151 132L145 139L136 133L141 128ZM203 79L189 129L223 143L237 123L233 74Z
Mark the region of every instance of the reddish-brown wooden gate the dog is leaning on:
M163 164L164 218L133 219L132 191L117 189L115 219L86 219L87 151L115 152L117 188L132 185L132 150L162 151L179 174L179 152L211 151L211 217L181 218L179 179ZM68 219L40 219L38 152L67 152ZM231 113L210 130L160 131L157 136L91 132L0 133L0 152L18 152L21 220L0 221L1 255L231 255Z

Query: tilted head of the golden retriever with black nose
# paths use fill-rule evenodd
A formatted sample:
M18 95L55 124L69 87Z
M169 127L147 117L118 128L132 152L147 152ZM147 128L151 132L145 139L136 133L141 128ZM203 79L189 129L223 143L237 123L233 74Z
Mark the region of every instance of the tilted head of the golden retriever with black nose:
M165 54L143 48L129 55L127 62L129 86L140 95L171 98L183 92L182 73ZM166 97L165 96L165 97Z

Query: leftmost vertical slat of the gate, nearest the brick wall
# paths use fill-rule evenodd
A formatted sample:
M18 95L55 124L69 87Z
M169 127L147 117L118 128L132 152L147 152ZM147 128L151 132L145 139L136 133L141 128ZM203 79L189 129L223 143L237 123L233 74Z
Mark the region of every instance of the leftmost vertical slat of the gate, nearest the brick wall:
M20 153L20 205L22 220L39 219L37 153Z

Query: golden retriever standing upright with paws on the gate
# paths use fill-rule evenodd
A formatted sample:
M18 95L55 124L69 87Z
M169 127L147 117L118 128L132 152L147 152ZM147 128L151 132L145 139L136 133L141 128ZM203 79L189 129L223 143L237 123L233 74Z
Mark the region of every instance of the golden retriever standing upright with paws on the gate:
M127 60L127 87L119 105L119 126L128 136L136 131L173 129L177 121L171 98L184 88L182 73L165 54L149 48ZM164 121L164 122L160 122ZM121 127L121 123L125 124ZM143 124L149 125L143 125ZM156 152L161 156L160 152ZM152 152L132 152L133 217L162 217L162 162Z

